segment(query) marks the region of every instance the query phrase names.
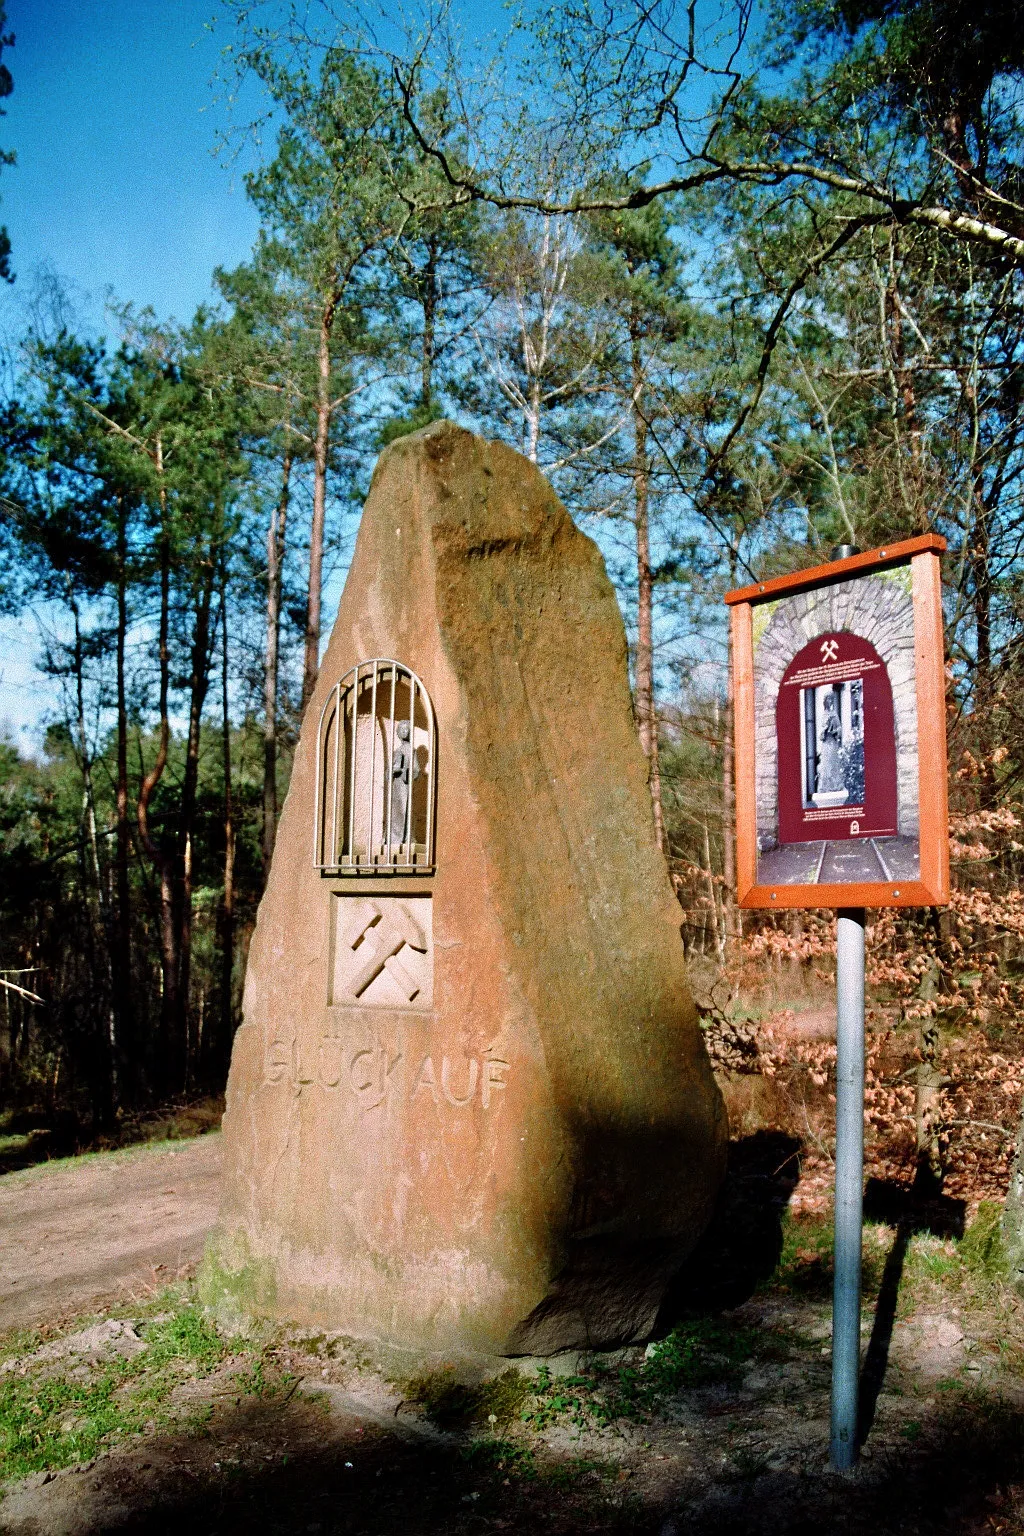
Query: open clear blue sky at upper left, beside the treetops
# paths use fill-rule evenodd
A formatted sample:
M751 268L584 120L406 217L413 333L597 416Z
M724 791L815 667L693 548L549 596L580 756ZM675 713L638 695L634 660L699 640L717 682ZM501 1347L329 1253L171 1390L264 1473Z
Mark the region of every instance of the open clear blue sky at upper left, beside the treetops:
M103 329L109 289L187 321L213 267L249 255L256 218L241 166L212 154L232 121L210 86L229 35L204 26L213 3L8 0L17 41L3 55L14 94L0 146L18 158L0 172L0 221L17 281L0 292L0 338L20 335L40 269ZM58 705L35 670L52 619L0 619L0 730L26 750Z

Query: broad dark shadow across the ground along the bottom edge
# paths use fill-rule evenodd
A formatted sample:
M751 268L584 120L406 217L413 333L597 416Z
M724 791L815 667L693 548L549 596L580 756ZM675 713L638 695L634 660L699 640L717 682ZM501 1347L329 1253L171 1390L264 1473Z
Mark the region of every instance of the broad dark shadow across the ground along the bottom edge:
M728 1442L722 1422L722 1448ZM500 1441L408 1444L387 1432L329 1424L299 1399L216 1412L203 1439L154 1439L144 1450L144 1461L141 1450L115 1456L34 1490L31 1511L25 1502L5 1508L3 1531L979 1536L1019 1530L1015 1484L1024 1476L1024 1418L976 1398L950 1404L920 1425L913 1445L901 1442L852 1476L824 1467L811 1476L728 1476L708 1462L663 1475L654 1487L643 1485L636 1455L633 1481L614 1464L531 1467Z

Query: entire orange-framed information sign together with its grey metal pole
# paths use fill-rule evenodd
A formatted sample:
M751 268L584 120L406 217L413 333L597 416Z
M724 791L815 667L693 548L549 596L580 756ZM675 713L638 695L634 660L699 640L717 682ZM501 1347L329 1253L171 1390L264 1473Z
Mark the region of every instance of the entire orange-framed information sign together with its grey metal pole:
M941 906L949 902L949 819L946 805L946 668L940 558L946 541L933 533L904 539L867 554L815 565L792 576L758 582L726 594L732 610L732 708L735 742L737 897L746 908L837 908L835 991L835 1281L832 1292L832 1427L831 1459L837 1471L857 1464L860 1389L861 1227L864 1187L864 908ZM897 617L912 633L897 634L904 659L912 645L913 679L901 680L901 707L917 737L917 803L901 826L900 756L904 797L913 763L906 742L897 743L892 679L872 628L878 602L831 608L831 625L803 605L789 627L804 645L788 657L772 700L761 679L761 748L774 759L761 765L758 793L758 717L754 627L755 610L801 593L824 593L843 584L854 593L863 578L910 568L910 610ZM906 610L906 604L903 605ZM778 608L772 608L775 614ZM837 617L841 613L841 617ZM772 621L761 625L760 648L771 654ZM808 633L812 630L814 633ZM781 633L781 631L780 631ZM892 633L887 633L892 642ZM791 641L791 644L797 644ZM777 667L775 667L777 670ZM913 708L909 708L907 694ZM907 713L909 710L909 713ZM774 716L774 719L771 719ZM851 799L852 797L852 799ZM758 834L760 826L769 836ZM913 837L900 837L909 826ZM814 833L818 839L814 839ZM821 836L827 834L827 836ZM872 836L874 834L874 836ZM758 842L760 837L760 842ZM768 843L763 848L761 843ZM821 849L814 857L817 843ZM895 845L903 869L886 862L883 843ZM870 854L861 849L870 848ZM889 857L895 862L895 854ZM827 862L827 868L826 868ZM843 866L874 879L837 880ZM821 880L820 876L826 874ZM812 877L808 879L806 876ZM803 876L803 879L801 879ZM881 879L886 876L886 879ZM907 877L909 876L909 877Z

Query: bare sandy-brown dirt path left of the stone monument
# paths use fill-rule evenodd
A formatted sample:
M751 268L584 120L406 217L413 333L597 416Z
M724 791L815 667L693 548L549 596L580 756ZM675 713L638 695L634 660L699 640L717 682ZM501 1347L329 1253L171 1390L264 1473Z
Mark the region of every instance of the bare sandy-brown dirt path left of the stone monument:
M216 1220L220 1135L0 1178L0 1330L164 1283Z

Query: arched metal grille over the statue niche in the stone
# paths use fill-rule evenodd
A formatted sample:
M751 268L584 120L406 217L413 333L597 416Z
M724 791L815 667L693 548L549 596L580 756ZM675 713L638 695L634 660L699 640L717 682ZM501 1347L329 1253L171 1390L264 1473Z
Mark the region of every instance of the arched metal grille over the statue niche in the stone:
M434 751L434 711L416 673L387 657L345 673L319 717L313 865L431 872Z

